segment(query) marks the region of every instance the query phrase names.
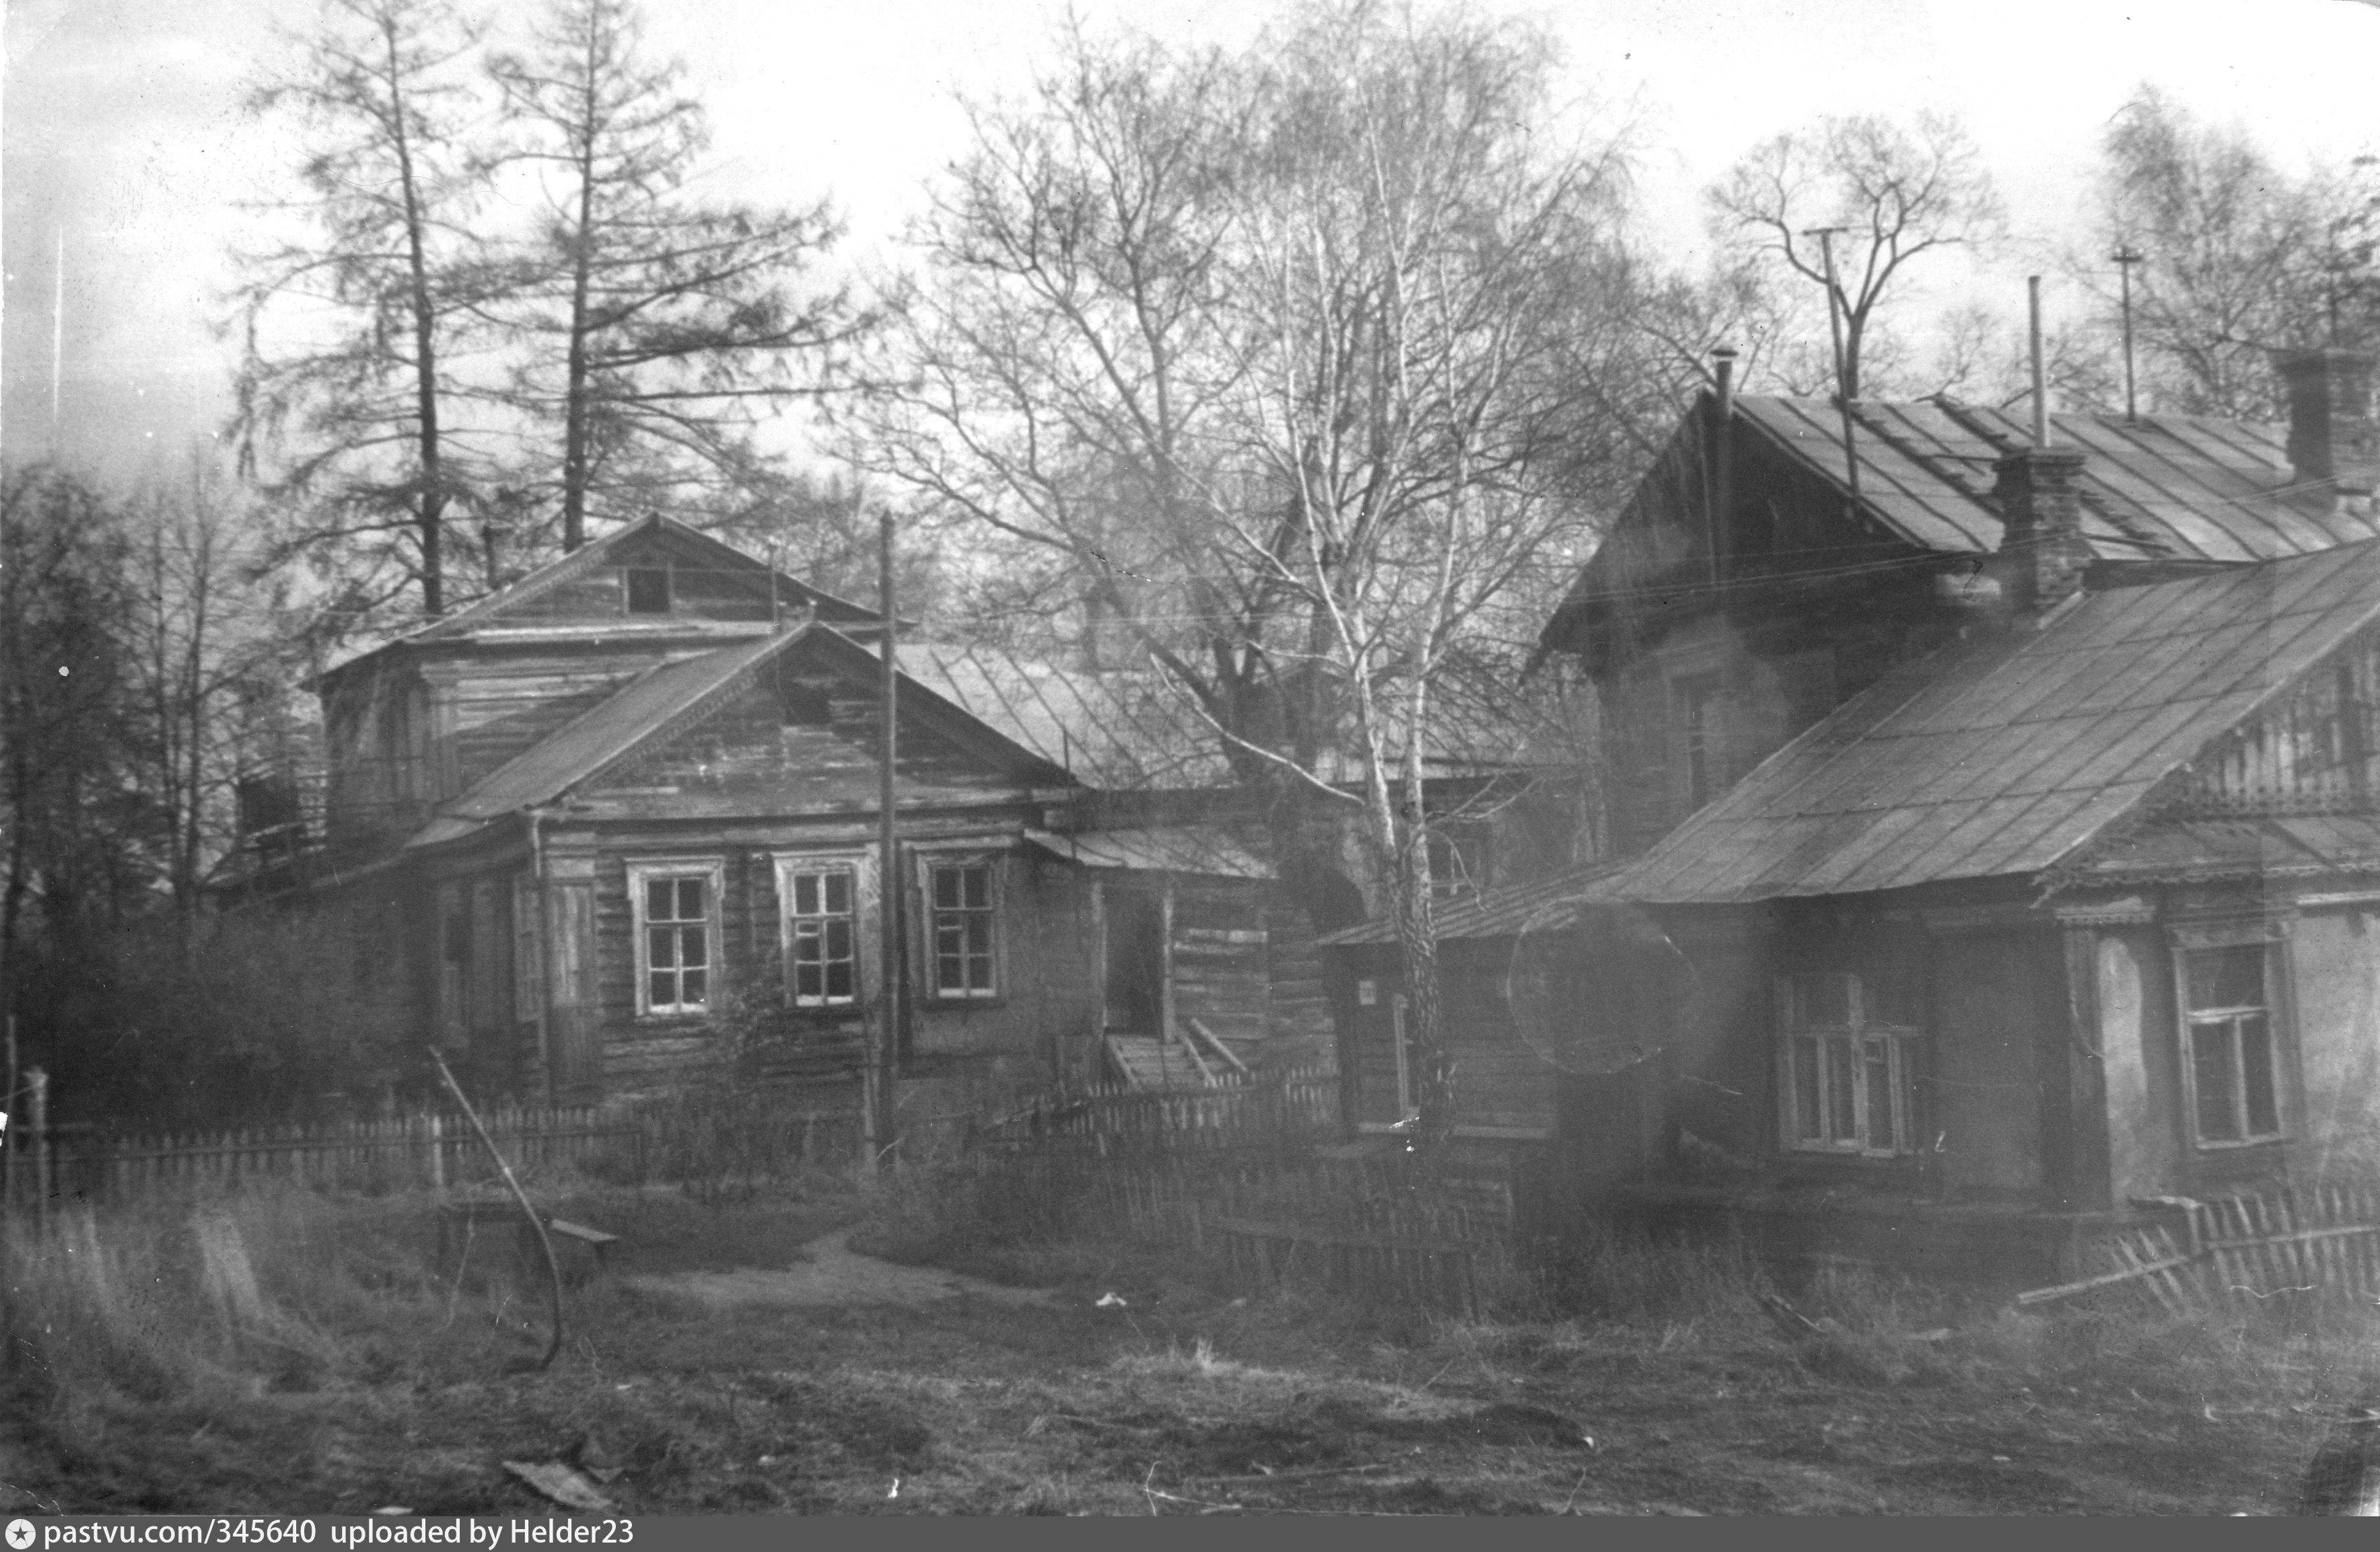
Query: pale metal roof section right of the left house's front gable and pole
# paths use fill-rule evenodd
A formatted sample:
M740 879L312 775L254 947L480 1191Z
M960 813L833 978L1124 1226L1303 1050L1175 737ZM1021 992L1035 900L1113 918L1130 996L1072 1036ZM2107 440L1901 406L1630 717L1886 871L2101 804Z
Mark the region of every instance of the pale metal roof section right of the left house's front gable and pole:
M1090 674L995 647L902 643L907 678L1095 788L1230 781L1216 738L1154 674Z

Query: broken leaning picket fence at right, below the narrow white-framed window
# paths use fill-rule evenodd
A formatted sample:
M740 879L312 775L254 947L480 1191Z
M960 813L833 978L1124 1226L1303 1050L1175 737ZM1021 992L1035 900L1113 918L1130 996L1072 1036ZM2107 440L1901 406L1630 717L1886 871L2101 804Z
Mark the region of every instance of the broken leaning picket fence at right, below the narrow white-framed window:
M2016 1295L2049 1304L2109 1288L2142 1288L2161 1309L2199 1316L2225 1302L2380 1300L2380 1190L2316 1185L2192 1202L2173 1226L2113 1235L2109 1271Z

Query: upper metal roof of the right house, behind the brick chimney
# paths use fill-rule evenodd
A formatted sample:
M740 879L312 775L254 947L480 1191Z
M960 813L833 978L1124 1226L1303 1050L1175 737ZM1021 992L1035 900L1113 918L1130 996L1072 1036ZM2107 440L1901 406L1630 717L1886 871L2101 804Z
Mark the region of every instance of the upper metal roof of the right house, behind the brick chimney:
M1737 414L1811 474L1849 493L1842 414L1830 400L1742 395ZM1921 550L1999 547L1992 464L2030 419L1952 400L1852 407L1864 505ZM2054 414L2054 440L2087 455L2082 533L2102 559L2249 562L2380 538L2328 493L2290 488L2287 431L2185 414Z

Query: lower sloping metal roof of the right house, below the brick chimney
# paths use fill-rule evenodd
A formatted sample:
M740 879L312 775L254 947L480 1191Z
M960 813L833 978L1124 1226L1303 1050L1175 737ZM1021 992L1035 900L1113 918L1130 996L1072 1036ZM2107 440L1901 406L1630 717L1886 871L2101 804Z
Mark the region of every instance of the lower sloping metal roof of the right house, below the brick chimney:
M1880 681L1609 888L1711 905L2049 869L2373 619L2380 543L2080 597Z

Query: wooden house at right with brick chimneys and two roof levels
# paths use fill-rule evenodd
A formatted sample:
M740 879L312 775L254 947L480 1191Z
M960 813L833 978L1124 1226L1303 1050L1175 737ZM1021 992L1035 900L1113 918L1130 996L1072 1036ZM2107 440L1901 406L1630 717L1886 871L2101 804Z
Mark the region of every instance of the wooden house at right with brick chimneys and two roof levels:
M1637 995L1466 1102L1559 1090L1549 1145L1647 1212L2013 1281L2125 1212L2368 1169L2370 369L2282 359L2287 428L2049 445L1706 395L1542 640L1602 690L1618 847L1528 933L1645 924L1592 976ZM1511 962L1504 905L1461 952ZM1492 1045L1511 990L1447 1002Z

